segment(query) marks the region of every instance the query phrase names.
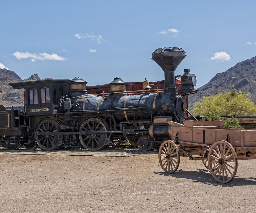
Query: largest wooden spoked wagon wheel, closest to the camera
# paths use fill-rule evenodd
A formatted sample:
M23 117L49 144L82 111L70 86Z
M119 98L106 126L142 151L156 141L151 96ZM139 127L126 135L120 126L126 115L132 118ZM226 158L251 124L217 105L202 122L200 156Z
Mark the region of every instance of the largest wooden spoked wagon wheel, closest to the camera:
M220 183L230 182L237 173L237 154L227 141L216 141L212 144L208 162L212 177Z

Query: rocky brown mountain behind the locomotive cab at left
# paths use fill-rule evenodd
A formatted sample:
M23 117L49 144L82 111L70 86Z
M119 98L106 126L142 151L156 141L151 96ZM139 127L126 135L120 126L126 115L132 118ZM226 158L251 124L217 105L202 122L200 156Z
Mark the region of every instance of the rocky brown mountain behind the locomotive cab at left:
M0 69L0 104L4 106L23 106L23 89L14 90L9 83L40 80L37 74L22 80L14 71Z

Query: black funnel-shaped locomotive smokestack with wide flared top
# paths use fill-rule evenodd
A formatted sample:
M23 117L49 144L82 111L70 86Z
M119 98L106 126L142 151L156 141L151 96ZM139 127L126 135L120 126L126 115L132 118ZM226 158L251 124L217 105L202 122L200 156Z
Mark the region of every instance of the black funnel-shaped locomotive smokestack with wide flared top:
M152 59L164 70L164 88L177 89L174 71L185 57L186 52L179 47L158 48L152 53Z

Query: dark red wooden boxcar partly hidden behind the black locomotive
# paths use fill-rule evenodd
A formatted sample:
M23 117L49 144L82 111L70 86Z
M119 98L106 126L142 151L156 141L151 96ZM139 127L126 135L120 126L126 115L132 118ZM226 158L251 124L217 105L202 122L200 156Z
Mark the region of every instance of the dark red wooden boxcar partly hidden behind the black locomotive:
M164 88L164 80L163 81L154 81L149 82L152 89L163 89ZM181 90L181 81L175 79L175 84L178 90ZM108 84L96 85L96 86L86 86L86 90L88 93L100 94L100 93L108 93L110 91L110 87ZM126 91L136 91L143 90L143 82L127 82ZM183 99L188 103L188 96L185 95ZM188 105L187 105L188 106ZM188 116L188 113L185 112L185 116Z

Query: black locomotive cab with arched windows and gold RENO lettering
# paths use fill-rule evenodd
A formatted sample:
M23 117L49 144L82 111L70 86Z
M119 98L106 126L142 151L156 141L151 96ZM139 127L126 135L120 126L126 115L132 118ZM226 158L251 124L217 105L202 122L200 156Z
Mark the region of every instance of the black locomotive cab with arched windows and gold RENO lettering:
M68 93L68 79L47 79L11 83L14 89L25 89L27 116L57 113L58 100Z

